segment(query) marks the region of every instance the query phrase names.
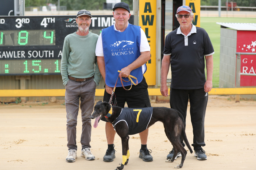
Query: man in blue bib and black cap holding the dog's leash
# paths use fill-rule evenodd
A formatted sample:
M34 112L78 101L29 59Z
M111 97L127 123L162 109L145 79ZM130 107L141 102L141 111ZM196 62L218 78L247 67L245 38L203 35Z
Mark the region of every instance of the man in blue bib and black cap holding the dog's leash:
M103 100L109 102L119 70L124 79L128 80L129 75L135 76L138 79L138 85L133 85L129 91L126 91L119 79L113 97L113 101L117 101L117 106L124 108L125 102L127 102L129 108L150 107L148 85L143 76L146 71L145 63L150 59L150 46L147 37L139 26L128 23L131 14L127 3L115 4L113 11L115 24L102 30L95 50L99 71L105 81ZM131 82L124 82L125 86L129 89ZM106 121L105 118L101 120ZM107 121L105 130L108 149L103 160L104 162L112 162L115 158L115 130L112 124ZM148 129L140 133L139 157L145 162L151 162L153 158L147 149L147 138Z

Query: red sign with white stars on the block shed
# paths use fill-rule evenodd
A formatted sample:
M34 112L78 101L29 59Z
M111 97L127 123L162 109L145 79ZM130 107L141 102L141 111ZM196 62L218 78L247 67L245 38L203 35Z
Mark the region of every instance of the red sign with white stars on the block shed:
M255 53L241 55L240 86L256 86L256 31L237 31L236 52Z

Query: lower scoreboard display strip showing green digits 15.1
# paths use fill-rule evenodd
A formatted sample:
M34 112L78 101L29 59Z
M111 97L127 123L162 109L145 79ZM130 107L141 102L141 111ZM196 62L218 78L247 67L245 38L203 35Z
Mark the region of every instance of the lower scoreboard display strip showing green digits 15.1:
M6 60L0 63L0 74L60 74L61 59Z

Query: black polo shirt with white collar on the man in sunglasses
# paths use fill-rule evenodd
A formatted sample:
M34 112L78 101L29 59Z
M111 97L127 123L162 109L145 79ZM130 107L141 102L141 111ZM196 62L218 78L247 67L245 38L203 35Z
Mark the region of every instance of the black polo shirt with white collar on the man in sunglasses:
M209 35L192 24L185 36L180 27L165 38L164 54L171 55L171 88L199 89L206 82L204 56L214 54Z

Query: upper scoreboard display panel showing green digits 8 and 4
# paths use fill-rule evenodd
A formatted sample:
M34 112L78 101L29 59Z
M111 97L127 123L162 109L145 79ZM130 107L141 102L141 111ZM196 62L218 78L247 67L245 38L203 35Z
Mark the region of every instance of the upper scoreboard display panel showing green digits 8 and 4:
M55 30L3 30L0 46L55 45Z

